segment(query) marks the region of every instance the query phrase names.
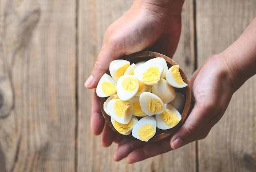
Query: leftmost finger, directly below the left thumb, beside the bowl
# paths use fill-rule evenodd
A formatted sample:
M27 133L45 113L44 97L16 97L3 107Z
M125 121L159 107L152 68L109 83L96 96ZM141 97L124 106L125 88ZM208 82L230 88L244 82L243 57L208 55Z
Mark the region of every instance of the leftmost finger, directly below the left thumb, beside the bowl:
M101 107L99 104L99 97L96 95L96 90L92 91L92 115L91 115L91 129L94 135L101 134L105 119L101 114Z

